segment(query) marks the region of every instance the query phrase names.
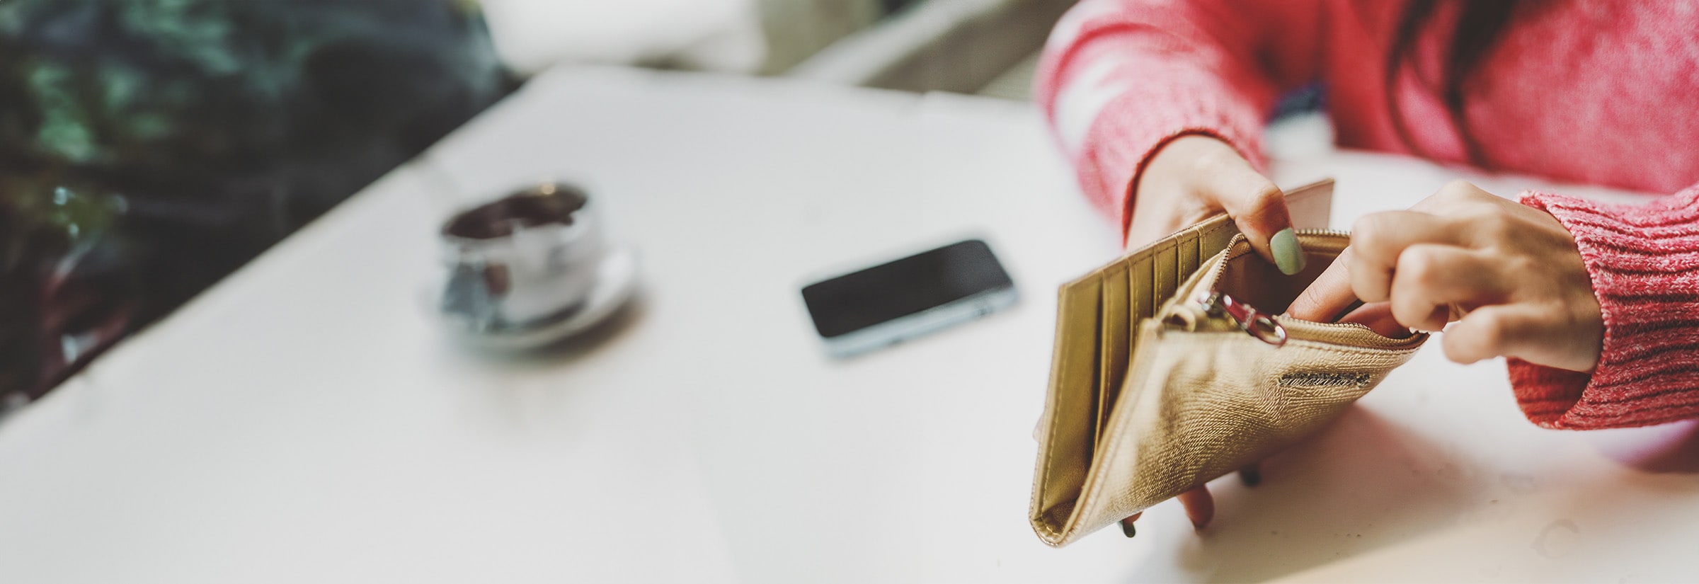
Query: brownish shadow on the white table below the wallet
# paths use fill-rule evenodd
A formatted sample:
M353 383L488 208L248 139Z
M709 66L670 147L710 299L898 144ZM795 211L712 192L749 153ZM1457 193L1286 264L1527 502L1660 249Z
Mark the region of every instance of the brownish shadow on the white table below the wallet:
M1216 518L1174 553L1201 581L1307 570L1456 523L1488 487L1463 457L1364 407L1262 463L1262 486L1220 480ZM1133 574L1128 581L1162 579Z

